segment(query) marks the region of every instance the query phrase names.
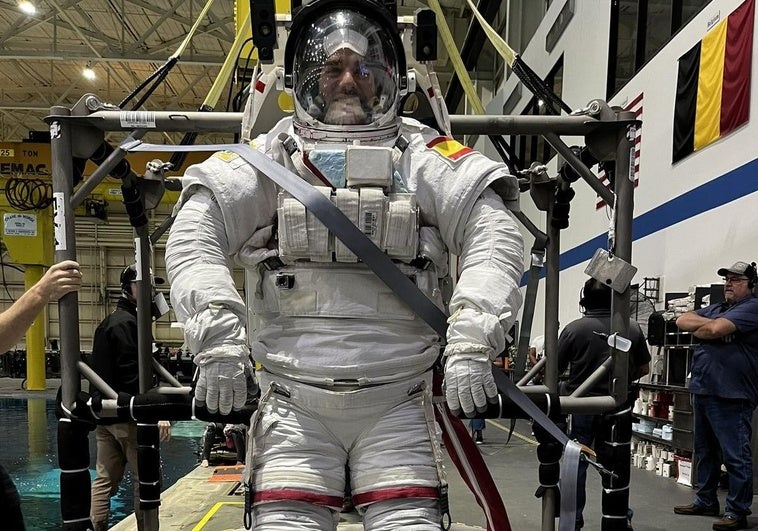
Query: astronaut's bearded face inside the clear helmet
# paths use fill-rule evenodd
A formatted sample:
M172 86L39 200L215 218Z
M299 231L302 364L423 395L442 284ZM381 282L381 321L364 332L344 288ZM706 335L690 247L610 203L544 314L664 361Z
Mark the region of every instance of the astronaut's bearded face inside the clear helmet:
M342 48L329 56L319 79L324 123L365 124L368 112L376 104L374 81L372 68L362 55Z

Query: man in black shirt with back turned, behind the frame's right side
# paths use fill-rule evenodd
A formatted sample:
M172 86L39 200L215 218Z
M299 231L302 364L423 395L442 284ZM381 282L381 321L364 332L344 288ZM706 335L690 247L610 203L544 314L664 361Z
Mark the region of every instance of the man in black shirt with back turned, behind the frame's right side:
M566 368L569 369L568 381L562 394L573 393L608 359L607 339L611 330L611 302L612 293L608 286L592 278L585 282L579 301L584 308L584 316L566 325L558 338L558 371L563 372ZM633 319L629 320L629 339L632 342L629 350L631 383L650 371L650 351L642 329ZM608 380L599 382L587 393L588 396L607 396L608 394ZM631 403L634 402L634 394L636 391L630 392L627 403L616 411L602 415L571 415L569 433L572 439L594 448L598 461L619 475L615 480L615 485L612 484L613 480L603 477L603 497L612 499L613 504L625 503L627 507L629 506L629 458L626 458L625 463L618 463L614 456L618 455L616 449L619 445L628 447L631 441ZM619 430L619 426L623 429ZM586 502L586 479L587 462L581 461L577 477L576 529L584 526L582 511ZM603 507L606 507L605 500Z

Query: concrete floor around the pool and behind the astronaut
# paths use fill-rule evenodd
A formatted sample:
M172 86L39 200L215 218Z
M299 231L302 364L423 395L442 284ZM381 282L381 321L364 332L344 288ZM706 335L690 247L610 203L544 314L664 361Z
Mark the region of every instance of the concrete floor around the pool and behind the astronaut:
M537 488L536 442L530 435L526 421L518 421L516 433L506 445L508 421L488 421L485 429L485 443L479 446L490 472L508 511L511 527L514 531L541 529L541 502L534 497ZM454 466L446 462L448 481L450 482L450 504L455 530L481 529L484 517L473 496L468 491ZM193 470L181 484L164 494L164 503L160 509L162 529L204 531L221 531L242 529L240 505L241 497L227 495L218 483L209 483L210 469ZM226 490L233 488L226 484ZM213 490L211 490L213 489ZM601 486L599 475L590 468L587 481L587 508L585 509L586 531L600 529ZM634 509L634 529L636 531L698 531L710 530L711 517L677 516L673 513L674 505L691 501L693 490L676 483L673 478L662 478L654 472L632 469L631 506ZM720 493L722 500L725 491ZM210 501L224 500L224 505L216 506L214 517L202 527L196 527L201 513L207 513ZM201 507L205 507L201 510ZM756 507L758 511L758 507ZM193 513L193 511L195 513ZM361 529L352 525L355 518L351 515L343 518L340 531ZM750 518L750 526L758 524L758 516ZM557 529L557 525L556 525ZM129 518L113 528L114 531L134 531L136 525Z

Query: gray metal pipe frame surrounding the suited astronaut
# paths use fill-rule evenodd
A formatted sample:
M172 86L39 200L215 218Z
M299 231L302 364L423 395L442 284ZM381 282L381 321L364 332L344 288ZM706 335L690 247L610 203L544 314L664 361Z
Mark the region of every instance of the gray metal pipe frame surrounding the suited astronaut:
M86 98L95 98L85 95ZM594 105L593 105L594 104ZM87 109L85 111L79 109ZM130 136L122 144L126 145L134 139L140 138L148 129L133 129L122 125L124 112L118 110L95 110L89 113L89 109L97 109L97 105L78 105L75 112L87 112L85 115L74 115L72 110L65 107L52 107L50 116L46 121L51 129L52 151L52 176L53 192L55 196L55 234L56 234L56 261L76 259L76 234L74 231L74 208L80 204L92 188L99 183L115 165L123 159L127 152L117 149L111 157L93 174L80 189L74 193L72 189L73 167L72 156L75 152L77 133L82 131L130 131ZM626 111L611 110L607 104L599 100L591 102L589 111L576 116L463 116L451 115L452 130L456 134L488 134L488 135L542 135L558 153L560 153L571 166L577 171L582 179L609 205L617 209L616 238L614 254L631 262L632 250L632 215L633 215L633 148L634 128L637 126L634 114ZM132 116L139 115L145 119L145 124L150 124L150 131L176 131L176 132L236 132L242 121L241 113L220 112L150 112L130 113ZM586 138L612 139L613 154L616 161L617 178L615 190L611 193L605 188L597 177L586 167L560 139L560 135L583 136ZM548 211L548 216L551 212ZM522 223L535 237L543 237L544 234L535 234L534 224L521 215ZM165 230L165 229L164 229ZM537 231L539 232L539 231ZM146 234L138 234L138 245L145 249L149 246ZM549 227L547 234L546 262L546 286L545 286L545 347L547 352L557 351L558 341L558 295L559 295L559 264L558 260L550 259L560 254L560 233L558 229ZM149 278L149 264L142 264L143 278ZM140 332L140 389L144 393L151 378L152 360L150 357L150 320L149 320L149 282L140 289L141 297L138 300L139 307L144 308L140 313L146 316L139 322ZM628 337L629 333L629 288L624 293L613 294L613 316L611 333L618 333ZM86 366L79 361L79 329L78 329L78 295L70 293L59 301L59 314L61 323L61 387L62 407L65 414L73 417L73 411L80 392L80 378L85 376L94 385L101 389L107 396L113 397L115 393L104 385L104 382L96 378L92 371L86 370ZM581 389L571 396L560 397L561 412L575 413L600 413L618 407L626 400L627 395L627 353L611 349L609 361L585 382ZM533 369L527 377L519 383L520 389L528 394L549 394L553 397L558 395L558 369L557 360L548 356L544 361L545 385L526 386L525 381L537 368ZM581 396L584 389L610 371L613 377L611 387L612 394L605 397ZM95 376L95 377L93 377ZM170 382L177 386L178 382ZM188 395L188 388L175 390L175 393ZM105 402L110 402L106 400ZM115 407L115 404L104 404L106 408ZM545 500L543 498L543 500ZM555 500L543 501L545 514L555 514ZM157 513L157 511L156 511ZM551 526L552 522L552 526ZM554 529L552 518L543 518L543 530ZM157 529L157 514L155 518Z

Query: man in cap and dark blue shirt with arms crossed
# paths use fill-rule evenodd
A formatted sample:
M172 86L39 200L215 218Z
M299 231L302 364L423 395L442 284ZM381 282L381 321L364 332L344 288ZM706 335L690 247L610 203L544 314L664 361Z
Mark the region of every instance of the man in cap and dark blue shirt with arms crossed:
M697 492L676 514L720 514L717 489L722 462L729 492L716 531L747 527L753 501L750 451L753 410L758 405L758 298L753 294L755 262L736 262L718 270L725 302L687 312L676 325L691 332L694 347L690 377L695 428Z

